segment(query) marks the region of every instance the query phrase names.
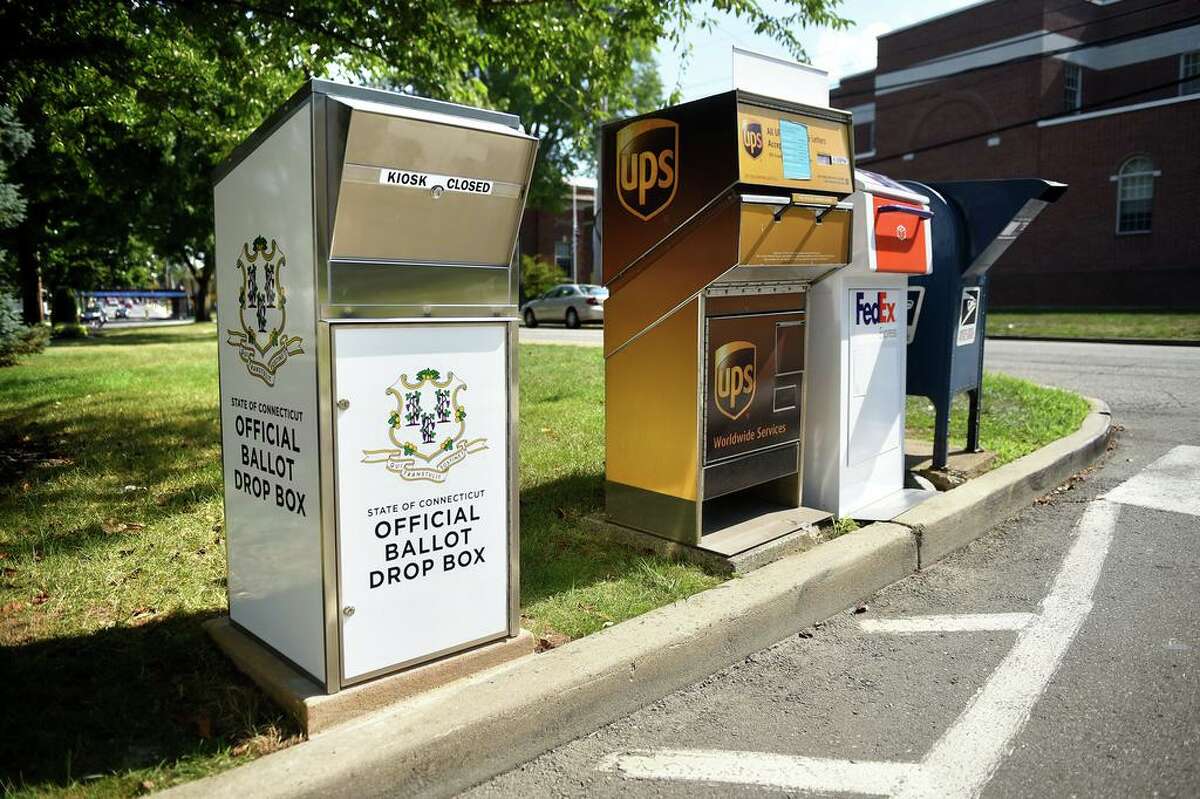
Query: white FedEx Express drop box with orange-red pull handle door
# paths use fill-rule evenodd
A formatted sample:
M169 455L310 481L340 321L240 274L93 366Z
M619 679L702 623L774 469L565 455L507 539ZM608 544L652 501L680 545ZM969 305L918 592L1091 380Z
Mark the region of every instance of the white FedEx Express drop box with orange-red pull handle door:
M838 517L889 519L932 495L905 488L908 278L932 271L929 198L854 173L851 264L809 292L804 503Z

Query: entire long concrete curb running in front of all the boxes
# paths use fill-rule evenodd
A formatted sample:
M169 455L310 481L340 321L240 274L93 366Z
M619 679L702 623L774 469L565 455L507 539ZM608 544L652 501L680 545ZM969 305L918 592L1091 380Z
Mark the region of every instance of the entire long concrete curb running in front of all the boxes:
M414 696L172 797L445 797L587 734L965 546L1090 464L1079 432L880 522L548 653Z

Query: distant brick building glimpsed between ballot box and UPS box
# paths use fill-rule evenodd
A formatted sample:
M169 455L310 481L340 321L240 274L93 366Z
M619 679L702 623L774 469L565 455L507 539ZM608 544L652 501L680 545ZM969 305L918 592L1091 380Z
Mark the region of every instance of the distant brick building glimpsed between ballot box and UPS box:
M592 232L595 228L596 181L594 178L572 178L566 188L569 193L562 211L526 209L517 238L517 256L553 262L566 272L569 281L594 283Z

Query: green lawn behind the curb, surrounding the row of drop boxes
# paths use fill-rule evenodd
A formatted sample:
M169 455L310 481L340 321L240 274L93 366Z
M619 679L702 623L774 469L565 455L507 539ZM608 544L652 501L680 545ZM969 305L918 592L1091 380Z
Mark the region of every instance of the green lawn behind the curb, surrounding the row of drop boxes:
M523 615L556 642L720 582L581 523L604 501L602 379L599 348L521 347ZM1082 419L1070 395L986 385L1002 457ZM0 370L0 567L6 793L134 795L298 737L200 630L226 609L212 325Z

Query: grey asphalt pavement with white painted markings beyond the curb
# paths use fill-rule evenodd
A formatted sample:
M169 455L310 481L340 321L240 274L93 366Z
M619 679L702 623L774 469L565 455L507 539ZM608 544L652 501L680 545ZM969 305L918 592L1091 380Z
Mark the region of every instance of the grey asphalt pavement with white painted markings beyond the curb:
M860 612L467 795L1200 795L1200 349L994 341L988 368L1104 398L1118 446Z

